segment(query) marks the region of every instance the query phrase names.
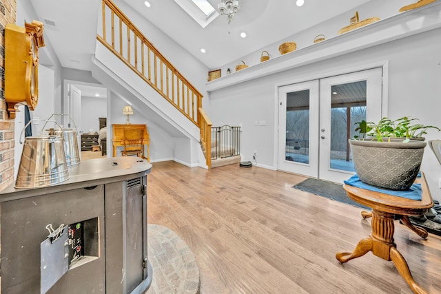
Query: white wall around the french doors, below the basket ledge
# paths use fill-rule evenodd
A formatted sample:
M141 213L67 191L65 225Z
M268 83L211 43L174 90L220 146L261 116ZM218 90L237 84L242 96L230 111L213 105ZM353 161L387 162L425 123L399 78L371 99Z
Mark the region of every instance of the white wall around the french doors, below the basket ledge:
M319 61L247 81L210 93L211 118L216 125L243 124L241 152L251 160L258 151L258 163L277 169L274 141L277 112L276 85L305 81L305 78L325 77L329 72L363 67L371 63L389 61L389 113L391 118L411 116L420 118L424 125L441 127L441 29L431 30L392 41L373 48L360 50L327 61ZM436 41L438 40L438 41ZM266 126L255 126L255 120L267 120ZM429 131L427 140L441 138L440 132ZM425 150L422 171L427 176L433 198L441 199L438 179L441 165L429 147Z

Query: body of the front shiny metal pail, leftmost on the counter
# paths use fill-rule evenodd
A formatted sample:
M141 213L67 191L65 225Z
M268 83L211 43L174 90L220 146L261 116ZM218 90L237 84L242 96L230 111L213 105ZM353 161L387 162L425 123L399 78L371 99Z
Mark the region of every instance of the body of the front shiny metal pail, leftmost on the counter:
M48 134L25 138L15 181L16 188L45 187L68 178L68 165L61 137Z

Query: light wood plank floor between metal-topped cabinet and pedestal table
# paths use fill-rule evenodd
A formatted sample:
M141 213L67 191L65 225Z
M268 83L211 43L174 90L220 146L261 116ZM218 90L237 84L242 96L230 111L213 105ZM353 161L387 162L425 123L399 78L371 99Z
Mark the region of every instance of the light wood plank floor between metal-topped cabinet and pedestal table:
M292 188L301 176L157 162L147 179L147 220L187 242L201 294L411 293L393 263L372 253L336 260L369 235L370 220L357 207ZM394 237L416 282L441 293L441 238L423 240L398 221Z

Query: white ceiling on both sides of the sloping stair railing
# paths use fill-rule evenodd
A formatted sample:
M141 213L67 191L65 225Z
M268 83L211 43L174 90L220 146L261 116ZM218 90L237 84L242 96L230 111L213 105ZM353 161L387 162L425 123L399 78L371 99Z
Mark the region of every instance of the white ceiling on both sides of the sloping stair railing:
M228 25L227 18L219 16L205 28L174 0L150 0L151 8L144 5L145 0L121 1L132 6L209 69L215 69L369 0L305 0L302 7L296 6L296 0L240 0L241 8L232 23ZM220 2L208 1L214 8ZM44 23L45 41L50 42L61 65L90 71L101 1L30 0L30 3L38 20ZM55 25L50 25L51 21ZM241 38L240 32L245 32L247 38ZM148 32L145 35L148 39ZM201 48L207 52L201 53ZM47 56L42 48L41 64L54 64Z

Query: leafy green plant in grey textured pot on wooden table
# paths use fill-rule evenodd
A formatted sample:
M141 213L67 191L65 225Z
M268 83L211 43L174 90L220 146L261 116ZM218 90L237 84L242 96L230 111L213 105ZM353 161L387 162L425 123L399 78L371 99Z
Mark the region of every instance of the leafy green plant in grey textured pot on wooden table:
M378 123L356 123L360 136L349 139L358 178L368 185L407 190L418 176L426 143L415 140L438 127L412 123L416 118L384 117Z

